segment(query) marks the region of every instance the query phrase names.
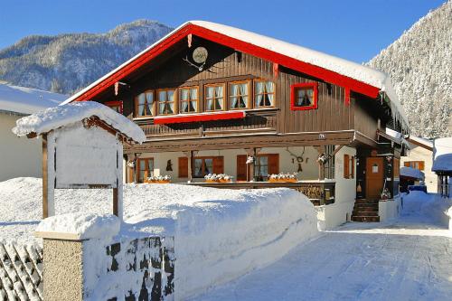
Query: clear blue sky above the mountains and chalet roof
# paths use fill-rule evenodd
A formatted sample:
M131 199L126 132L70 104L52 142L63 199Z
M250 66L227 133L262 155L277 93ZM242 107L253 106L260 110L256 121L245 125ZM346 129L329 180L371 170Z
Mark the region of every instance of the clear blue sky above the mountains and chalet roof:
M207 20L370 60L446 0L0 0L0 49L29 34L104 33L137 19Z

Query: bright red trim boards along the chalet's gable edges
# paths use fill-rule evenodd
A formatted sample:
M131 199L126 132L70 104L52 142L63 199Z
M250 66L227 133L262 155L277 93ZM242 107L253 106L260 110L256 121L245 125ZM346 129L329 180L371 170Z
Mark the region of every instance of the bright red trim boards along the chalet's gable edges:
M225 34L213 32L202 26L187 24L162 42L159 42L149 51L137 57L136 60L130 61L122 69L116 71L105 80L102 80L101 82L99 82L99 84L81 94L74 100L83 101L92 99L103 90L108 89L108 87L113 85L116 81L123 79L132 71L137 70L137 68L144 65L146 62L154 59L157 55L174 45L174 43L179 42L188 34L194 34L206 40L218 42L222 45L231 47L240 52L246 52L264 60L273 61L281 66L285 66L295 71L303 72L315 78L325 80L326 82L352 89L355 92L369 96L373 99L376 98L380 92L380 89L366 84L363 81L354 80L350 77L344 76L334 71L326 70L325 68L312 65L305 61L298 61L297 59L288 57L278 52L269 51L268 49L256 46L249 42L243 42L238 39L231 38L230 36L227 36Z

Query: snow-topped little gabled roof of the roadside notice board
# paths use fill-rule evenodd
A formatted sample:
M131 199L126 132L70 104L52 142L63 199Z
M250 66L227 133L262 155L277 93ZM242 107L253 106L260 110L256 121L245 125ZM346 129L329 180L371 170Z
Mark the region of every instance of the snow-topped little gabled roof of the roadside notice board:
M13 128L13 132L17 136L25 136L30 133L40 135L52 129L70 125L93 116L100 118L110 127L115 128L138 143L143 143L146 140L145 133L134 122L118 114L113 109L94 101L74 102L46 108L16 120L16 127Z

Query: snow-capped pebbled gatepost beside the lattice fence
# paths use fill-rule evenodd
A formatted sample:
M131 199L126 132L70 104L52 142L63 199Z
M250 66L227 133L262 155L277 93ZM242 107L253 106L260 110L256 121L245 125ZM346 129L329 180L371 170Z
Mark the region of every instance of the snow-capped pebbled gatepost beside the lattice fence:
M35 234L43 240L44 300L85 300L92 295L107 272L106 248L120 224L114 215L83 213L43 220Z

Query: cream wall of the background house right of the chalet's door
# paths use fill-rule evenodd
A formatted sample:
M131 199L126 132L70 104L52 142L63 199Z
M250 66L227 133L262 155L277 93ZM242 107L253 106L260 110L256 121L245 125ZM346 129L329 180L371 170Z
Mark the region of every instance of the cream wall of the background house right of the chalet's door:
M435 173L431 171L432 152L424 147L415 146L410 144L412 147L409 150L407 156L400 157L400 167L404 166L406 161L424 161L424 174L425 174L425 184L427 186L428 193L438 192L438 177Z

